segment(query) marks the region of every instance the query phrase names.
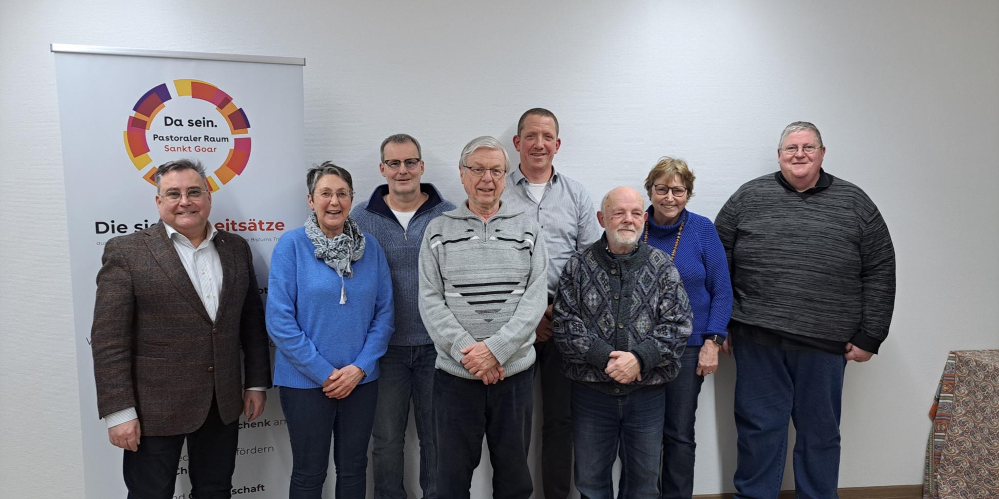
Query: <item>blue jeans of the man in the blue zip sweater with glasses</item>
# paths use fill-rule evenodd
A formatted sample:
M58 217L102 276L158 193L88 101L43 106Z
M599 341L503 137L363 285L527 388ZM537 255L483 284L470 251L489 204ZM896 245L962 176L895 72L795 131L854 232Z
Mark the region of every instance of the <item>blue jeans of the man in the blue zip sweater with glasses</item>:
M372 430L375 499L406 499L403 447L413 399L420 439L420 487L425 499L437 498L437 435L434 430L433 344L389 345L379 359L378 410Z

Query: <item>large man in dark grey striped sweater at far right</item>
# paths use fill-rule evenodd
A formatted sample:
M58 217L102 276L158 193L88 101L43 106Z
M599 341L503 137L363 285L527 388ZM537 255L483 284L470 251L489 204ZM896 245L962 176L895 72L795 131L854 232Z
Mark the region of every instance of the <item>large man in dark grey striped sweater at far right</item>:
M891 323L888 228L860 188L822 170L824 156L814 125L788 125L780 171L739 188L715 220L735 294L739 499L777 496L790 418L798 496L837 497L846 362L869 360Z

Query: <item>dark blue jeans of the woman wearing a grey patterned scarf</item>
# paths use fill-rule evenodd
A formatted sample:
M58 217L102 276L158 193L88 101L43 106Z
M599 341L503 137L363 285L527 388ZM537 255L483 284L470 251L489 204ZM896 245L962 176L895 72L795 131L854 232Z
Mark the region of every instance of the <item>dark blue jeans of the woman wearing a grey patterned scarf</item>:
M378 402L378 380L359 384L347 398L327 398L322 388L281 387L281 408L292 443L289 499L321 499L330 467L337 469L337 499L365 499L368 440Z

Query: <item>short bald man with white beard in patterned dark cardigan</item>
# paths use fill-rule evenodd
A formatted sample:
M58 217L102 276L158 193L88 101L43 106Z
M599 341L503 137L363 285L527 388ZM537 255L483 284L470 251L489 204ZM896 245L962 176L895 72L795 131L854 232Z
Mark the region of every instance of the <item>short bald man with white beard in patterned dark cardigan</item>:
M679 372L691 312L669 255L638 241L646 217L637 191L607 193L596 213L603 237L569 258L555 293L582 497L613 497L618 441L627 497L658 497L663 385Z

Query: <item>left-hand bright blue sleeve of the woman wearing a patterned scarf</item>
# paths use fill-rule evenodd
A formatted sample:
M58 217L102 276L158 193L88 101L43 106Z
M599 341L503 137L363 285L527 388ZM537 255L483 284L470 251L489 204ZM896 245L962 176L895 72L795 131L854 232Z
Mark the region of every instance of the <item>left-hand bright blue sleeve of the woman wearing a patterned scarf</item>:
M333 373L331 364L312 339L299 325L298 273L295 242L292 234L285 235L271 254L271 275L268 279L267 332L271 340L288 357L299 372L322 385Z

